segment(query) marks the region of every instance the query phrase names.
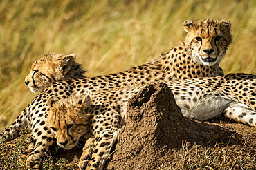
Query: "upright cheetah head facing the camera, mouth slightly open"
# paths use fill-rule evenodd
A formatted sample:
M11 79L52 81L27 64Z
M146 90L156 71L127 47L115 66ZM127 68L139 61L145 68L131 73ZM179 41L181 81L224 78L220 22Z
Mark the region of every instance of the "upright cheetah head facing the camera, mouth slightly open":
M221 62L232 41L231 23L227 20L186 20L183 27L188 32L186 45L192 49L192 60L203 65L214 65Z

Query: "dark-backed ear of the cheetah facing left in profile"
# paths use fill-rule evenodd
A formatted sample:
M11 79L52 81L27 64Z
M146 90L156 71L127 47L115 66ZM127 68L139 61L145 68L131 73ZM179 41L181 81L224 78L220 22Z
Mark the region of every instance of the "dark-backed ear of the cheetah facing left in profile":
M67 74L69 70L71 70L71 67L73 63L75 62L75 54L68 54L65 55L61 60L60 60L60 71L63 74Z

